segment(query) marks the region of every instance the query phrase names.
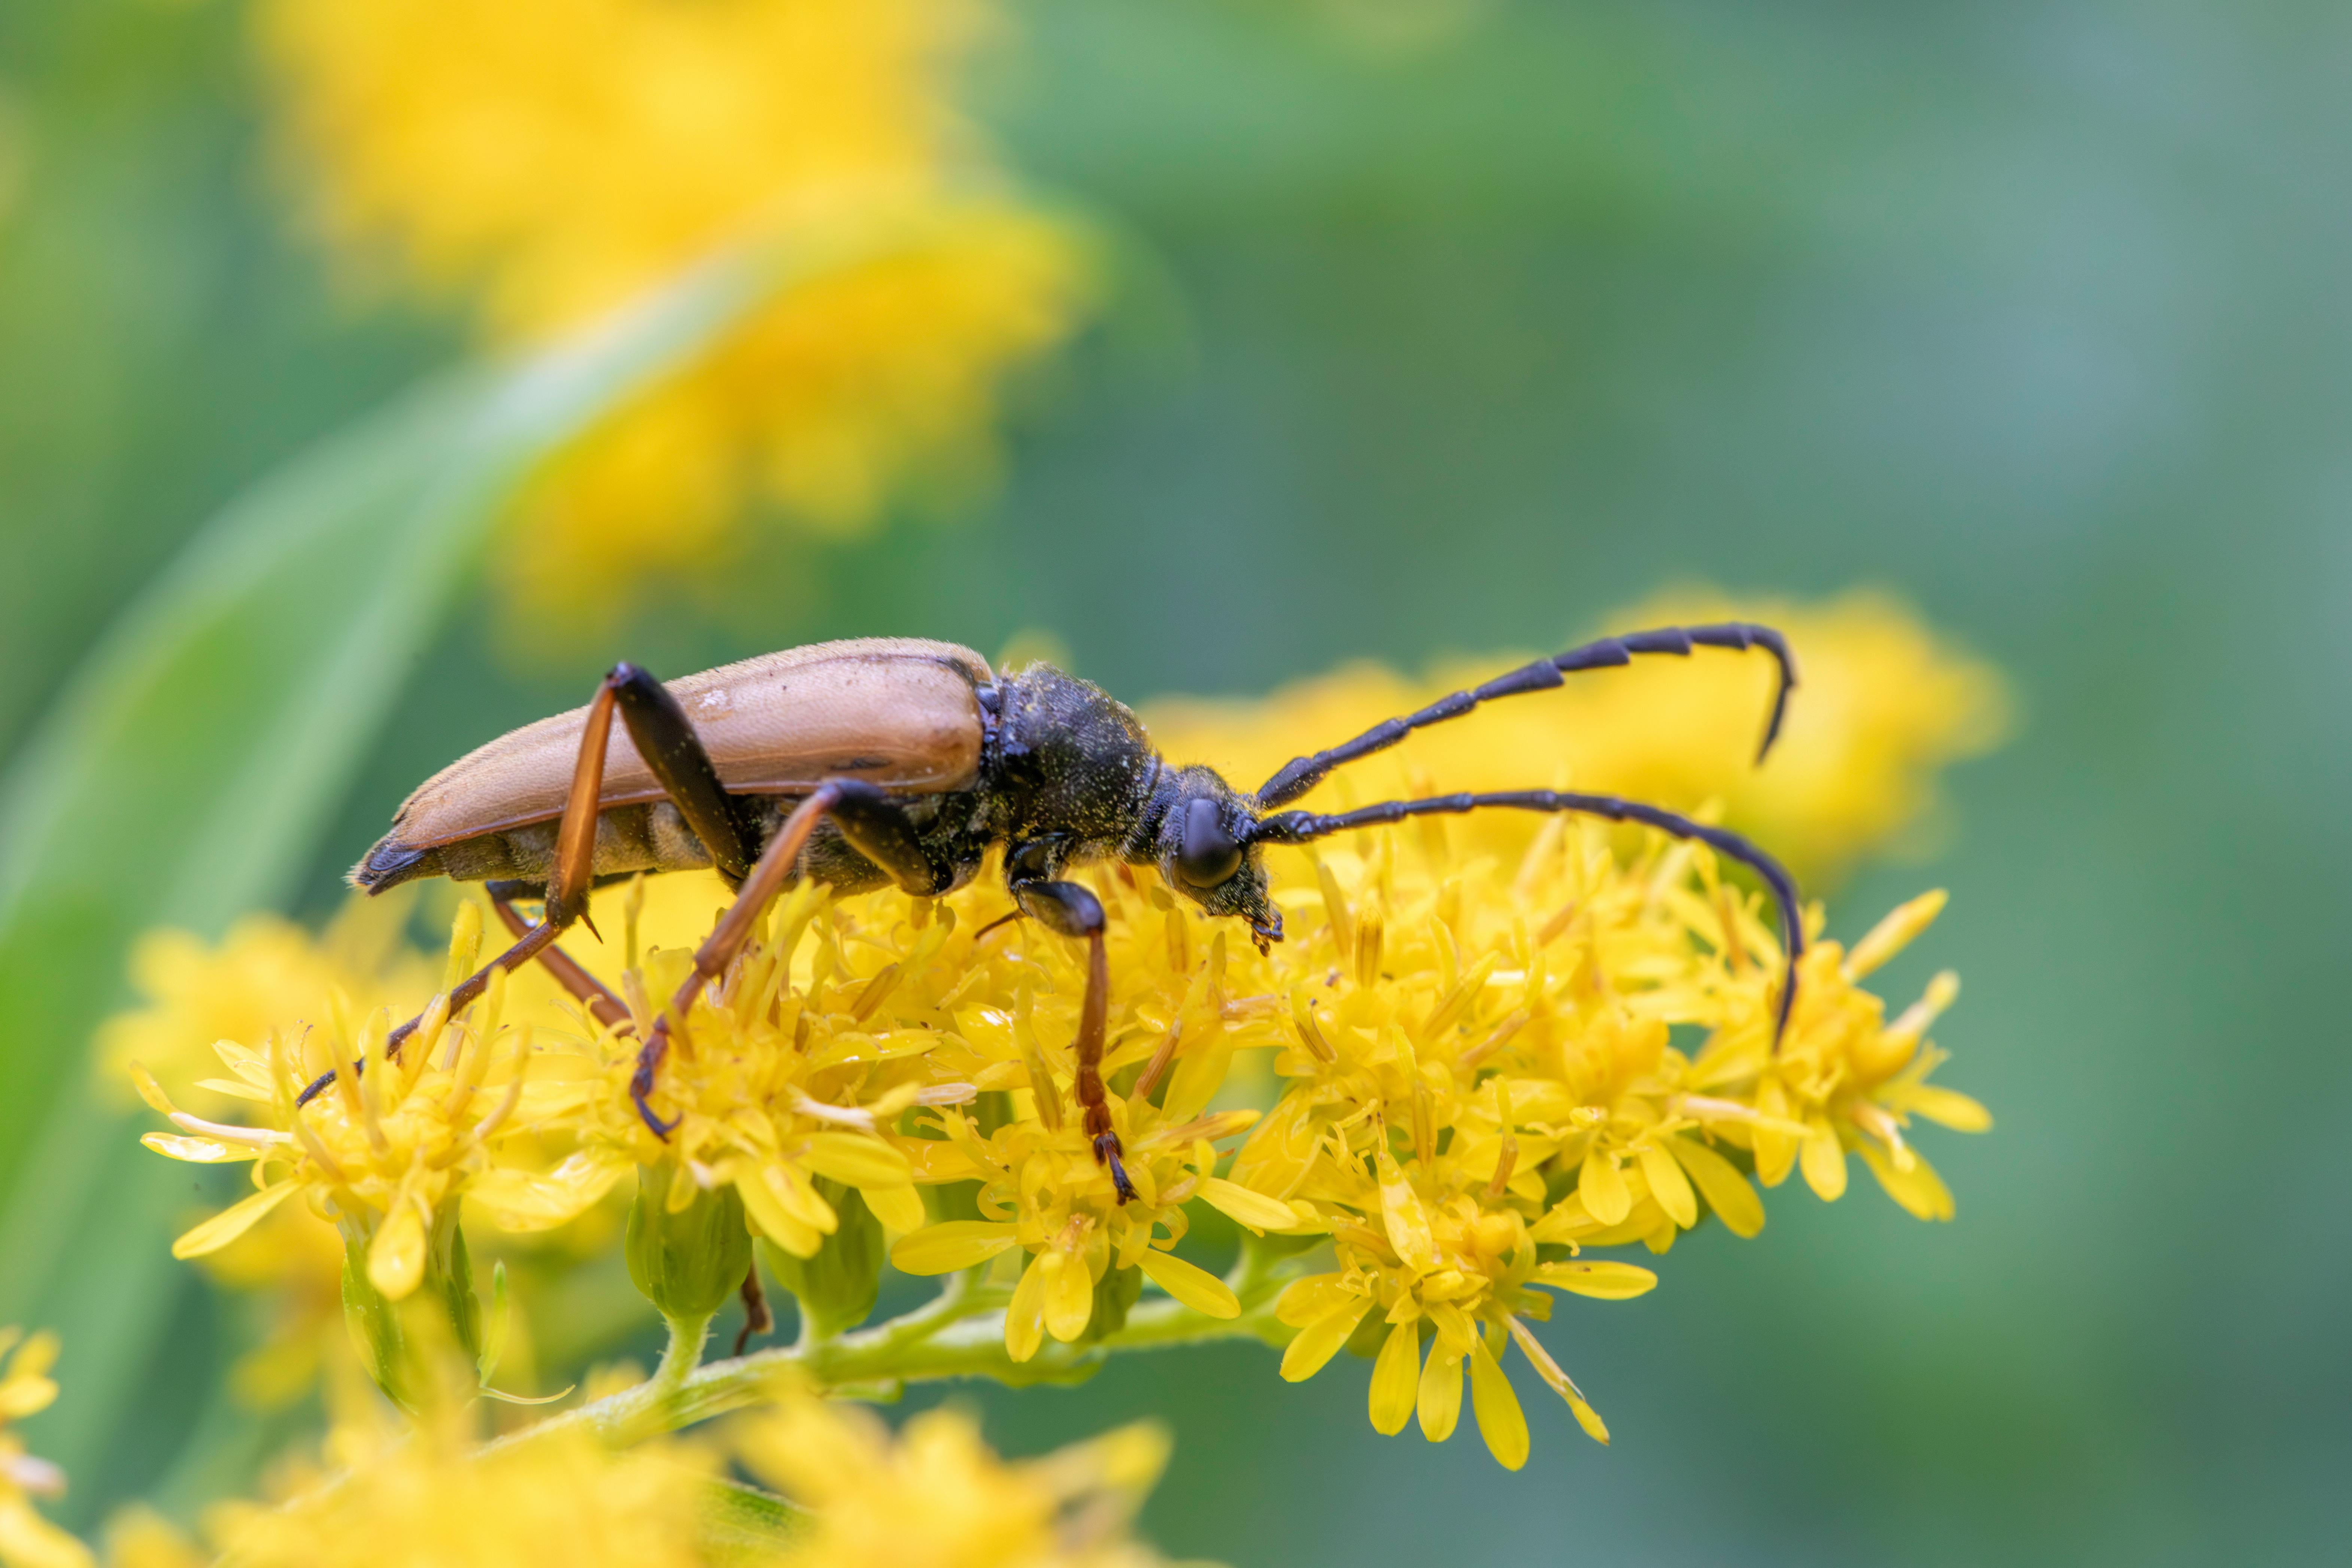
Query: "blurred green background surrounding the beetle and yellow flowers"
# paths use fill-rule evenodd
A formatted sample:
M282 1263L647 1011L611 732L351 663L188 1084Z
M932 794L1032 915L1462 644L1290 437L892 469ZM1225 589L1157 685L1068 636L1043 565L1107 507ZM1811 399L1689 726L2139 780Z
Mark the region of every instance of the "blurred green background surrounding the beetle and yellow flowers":
M1127 228L1145 282L1030 388L1002 494L774 550L724 604L675 592L520 665L487 602L419 611L414 672L383 649L390 710L360 715L376 738L327 769L268 898L332 907L416 778L621 654L668 672L1042 625L1150 698L1550 644L1672 581L1889 585L2002 663L2025 712L1952 778L1943 858L1837 905L1851 936L1952 889L1886 992L1966 976L1945 1079L1997 1128L1929 1145L1955 1225L1856 1187L1785 1194L1757 1246L1703 1232L1663 1291L1562 1342L1616 1446L1531 1403L1517 1476L1468 1439L1374 1436L1362 1366L1289 1387L1258 1349L955 1396L1014 1450L1160 1413L1178 1443L1150 1533L1242 1566L2333 1561L2352 12L1014 14L988 118L1028 176ZM235 5L0 5L19 795L28 741L71 726L68 672L198 524L456 355L447 322L332 284L259 136ZM122 778L125 809L188 780ZM0 889L28 877L9 853ZM136 867L106 875L139 898ZM54 1086L71 1020L125 999L101 926L0 954L12 1081ZM33 1004L35 969L92 952L73 1006ZM35 1194L38 1147L0 1119ZM54 1312L47 1288L0 1300ZM28 1427L40 1448L125 1368L122 1420L75 1460L82 1519L172 1467L226 1333L169 1265L87 1288L139 1298L103 1319L129 1349L75 1309L66 1401Z

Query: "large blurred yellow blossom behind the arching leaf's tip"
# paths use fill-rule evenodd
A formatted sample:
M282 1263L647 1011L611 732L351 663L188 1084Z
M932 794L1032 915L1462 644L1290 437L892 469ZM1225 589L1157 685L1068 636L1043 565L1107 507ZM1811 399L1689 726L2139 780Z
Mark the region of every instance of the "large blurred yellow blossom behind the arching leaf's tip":
M501 571L539 623L710 564L746 501L851 531L995 465L1007 371L1089 306L1077 230L969 202L950 103L978 0L266 0L320 223L487 331L543 339L748 237L938 212L793 289L614 416L529 498ZM962 205L957 205L962 202Z

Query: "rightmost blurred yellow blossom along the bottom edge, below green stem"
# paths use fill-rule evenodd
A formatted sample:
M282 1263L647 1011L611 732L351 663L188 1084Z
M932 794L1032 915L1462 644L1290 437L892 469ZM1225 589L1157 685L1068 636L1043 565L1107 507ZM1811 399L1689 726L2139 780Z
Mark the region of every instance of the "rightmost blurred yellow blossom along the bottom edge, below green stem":
M1157 1427L1122 1427L1042 1460L1000 1460L960 1410L898 1432L816 1399L786 1399L736 1434L743 1462L809 1512L790 1568L1150 1568L1129 1535L1167 1465Z

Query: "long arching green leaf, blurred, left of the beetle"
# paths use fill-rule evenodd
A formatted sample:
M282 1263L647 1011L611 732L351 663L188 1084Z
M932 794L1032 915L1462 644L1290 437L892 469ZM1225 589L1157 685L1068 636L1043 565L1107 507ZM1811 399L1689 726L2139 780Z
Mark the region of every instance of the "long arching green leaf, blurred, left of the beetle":
M68 682L0 780L0 1324L66 1331L45 1455L71 1472L103 1453L183 1288L169 1227L200 1208L92 1084L132 940L214 936L289 896L534 465L750 306L957 216L724 256L579 339L414 390L214 517Z

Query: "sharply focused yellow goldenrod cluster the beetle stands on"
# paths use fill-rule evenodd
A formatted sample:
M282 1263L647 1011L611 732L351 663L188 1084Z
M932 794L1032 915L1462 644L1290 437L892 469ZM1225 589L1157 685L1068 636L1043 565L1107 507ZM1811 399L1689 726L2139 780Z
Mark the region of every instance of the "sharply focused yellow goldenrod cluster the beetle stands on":
M1828 642L1806 663L1799 715L1823 684L1870 691ZM1990 691L1933 658L1924 675L1950 679L1926 689L1950 701ZM1710 663L1738 665L1700 656L1691 672ZM1301 701L1279 696L1268 712ZM1849 710L1867 715L1870 703ZM1940 719L1912 719L1900 743L1856 719L1837 748L1882 759L1879 809L1856 809L1865 827L1844 837L1823 827L1818 853L1849 858L1907 820L1929 759L1964 733L1952 710ZM1249 764L1265 724L1240 715L1230 736L1195 729L1192 752ZM1482 724L1430 731L1406 766L1465 783L1491 766ZM1621 719L1588 736L1585 755L1665 755L1656 733L1646 715ZM1828 743L1795 724L1788 741L1797 757ZM995 875L936 900L837 898L814 884L779 898L734 966L670 1023L652 1088L666 1135L640 1117L630 1079L659 999L675 994L729 898L708 875L612 889L597 900L609 940L567 940L626 1001L614 1023L539 971L452 1009L449 987L482 947L480 905L461 900L440 997L421 994L423 957L353 945L350 926L310 952L285 929L247 926L209 964L200 947L153 947L143 978L155 1001L111 1048L136 1041L169 1063L169 1088L134 1070L172 1121L151 1147L254 1173L254 1192L176 1251L228 1248L270 1211L273 1225L336 1237L360 1361L412 1410L433 1408L433 1368L452 1359L468 1389L487 1387L508 1340L503 1286L487 1309L477 1298L468 1227L619 1244L673 1347L652 1380L555 1418L607 1434L743 1403L781 1363L844 1387L969 1373L1018 1382L1080 1375L1122 1345L1249 1335L1282 1345L1289 1380L1341 1349L1369 1359L1367 1413L1383 1434L1418 1425L1444 1441L1468 1403L1494 1458L1519 1467L1529 1427L1512 1361L1606 1441L1595 1401L1548 1347L1548 1324L1658 1286L1658 1258L1684 1232L1712 1218L1755 1237L1766 1194L1790 1175L1837 1199L1856 1159L1905 1211L1952 1215L1915 1133L1990 1126L1983 1107L1931 1081L1943 1051L1929 1034L1957 980L1938 973L1903 1006L1867 990L1929 929L1943 893L1896 907L1851 945L1825 936L1820 905L1802 910L1809 945L1776 1039L1785 961L1773 912L1705 846L1583 818L1512 832L1416 818L1265 856L1289 933L1268 950L1150 870L1077 872L1108 914L1103 1079L1127 1201L1075 1095L1084 945L1000 919L1011 903ZM238 1013L238 976L275 987L266 1006ZM409 1011L419 1025L395 1032ZM214 1095L207 1110L233 1105L235 1119L174 1098L207 1072L174 1032L216 1018L245 1018L252 1032L214 1044L219 1067L193 1091ZM301 1103L329 1067L332 1084ZM616 1237L623 1197L633 1208ZM1221 1274L1235 1237L1242 1260ZM1635 1246L1642 1262L1616 1251ZM320 1272L320 1248L268 1255ZM884 1258L943 1276L943 1291L858 1328ZM800 1298L802 1342L701 1366L703 1333L746 1274ZM315 1286L303 1300L325 1298ZM727 1453L826 1514L802 1544L833 1556L807 1561L887 1561L891 1530L915 1530L908 1490L962 1488L971 1509L1007 1509L990 1526L1007 1533L1016 1516L1068 1509L1077 1493L1056 1486L1124 1476L1112 1490L1134 1488L1157 1465L1138 1458L1143 1439L1030 1472L1000 1467L948 1418L898 1448L807 1401L762 1420ZM830 1458L809 1458L816 1427ZM541 1455L532 1465L572 1462L553 1441L520 1450ZM456 1462L426 1446L402 1455L386 1460L388 1476ZM677 1465L696 1486L710 1481L701 1460ZM630 1486L614 1481L612 1495ZM661 1507L647 1502L647 1516ZM612 1535L626 1537L619 1526ZM1124 1535L1103 1540L1101 1556L1070 1561L1124 1561Z

